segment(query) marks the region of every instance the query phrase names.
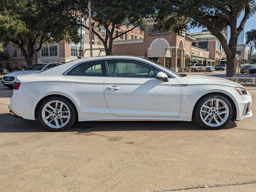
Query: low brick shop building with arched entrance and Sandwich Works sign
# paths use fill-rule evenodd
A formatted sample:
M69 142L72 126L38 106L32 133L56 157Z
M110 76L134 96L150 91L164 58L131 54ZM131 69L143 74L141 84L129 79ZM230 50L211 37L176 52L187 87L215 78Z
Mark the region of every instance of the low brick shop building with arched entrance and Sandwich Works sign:
M192 46L196 38L190 34L158 32L154 30L154 19L146 21L148 30L144 32L144 39L116 41L113 43L112 54L148 58L174 71L188 66L191 60L200 63L207 60L209 65L215 64L215 60L209 58L209 51Z

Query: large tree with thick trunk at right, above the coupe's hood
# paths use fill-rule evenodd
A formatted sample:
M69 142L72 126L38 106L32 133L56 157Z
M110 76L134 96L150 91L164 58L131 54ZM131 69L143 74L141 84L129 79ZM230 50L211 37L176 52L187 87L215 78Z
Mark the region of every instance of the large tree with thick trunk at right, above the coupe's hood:
M155 0L153 0L155 2ZM236 76L236 44L246 20L255 13L255 0L161 0L155 4L157 28L181 33L203 27L220 40L227 56L226 76ZM242 15L241 22L238 17ZM230 40L222 30L230 27Z

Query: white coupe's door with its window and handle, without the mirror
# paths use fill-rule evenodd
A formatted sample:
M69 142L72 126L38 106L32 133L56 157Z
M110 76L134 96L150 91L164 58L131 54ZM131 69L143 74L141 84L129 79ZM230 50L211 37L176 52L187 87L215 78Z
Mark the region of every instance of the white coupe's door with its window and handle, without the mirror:
M115 116L178 117L181 88L178 80L156 79L160 69L138 60L106 60L104 96Z

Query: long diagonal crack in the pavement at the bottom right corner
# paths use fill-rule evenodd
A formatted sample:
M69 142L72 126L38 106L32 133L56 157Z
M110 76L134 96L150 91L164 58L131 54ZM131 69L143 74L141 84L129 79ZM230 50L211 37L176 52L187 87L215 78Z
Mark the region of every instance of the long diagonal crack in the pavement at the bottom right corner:
M256 180L248 181L248 182L235 182L235 183L227 183L227 184L213 184L213 185L198 185L186 188L179 189L170 189L170 190L155 190L151 192L169 192L169 191L181 191L181 190L189 190L189 189L200 189L200 188L211 188L211 187L224 187L224 186L235 186L235 185L246 185L246 184L255 184Z

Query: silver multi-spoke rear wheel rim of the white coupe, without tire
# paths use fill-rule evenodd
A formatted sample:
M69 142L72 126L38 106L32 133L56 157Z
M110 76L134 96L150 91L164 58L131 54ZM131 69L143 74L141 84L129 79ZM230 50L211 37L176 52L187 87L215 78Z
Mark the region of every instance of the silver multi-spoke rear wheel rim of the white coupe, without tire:
M62 101L50 101L42 110L44 123L51 128L62 128L70 119L70 110Z

